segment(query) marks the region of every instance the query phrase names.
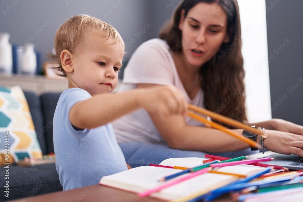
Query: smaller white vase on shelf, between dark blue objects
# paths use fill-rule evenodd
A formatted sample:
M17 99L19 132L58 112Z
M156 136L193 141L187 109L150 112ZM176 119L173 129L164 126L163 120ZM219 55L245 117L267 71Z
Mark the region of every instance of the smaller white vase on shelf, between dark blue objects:
M35 45L28 44L22 56L22 74L35 75L37 70L37 56Z

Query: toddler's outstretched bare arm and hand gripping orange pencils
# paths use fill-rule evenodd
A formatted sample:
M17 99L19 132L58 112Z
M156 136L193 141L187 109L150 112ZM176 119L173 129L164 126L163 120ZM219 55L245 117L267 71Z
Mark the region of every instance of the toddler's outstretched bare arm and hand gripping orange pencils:
M169 114L184 114L188 108L185 99L172 104L178 94L180 91L177 88L163 85L121 93L97 94L74 104L69 111L69 120L78 128L95 128L141 107L161 118Z

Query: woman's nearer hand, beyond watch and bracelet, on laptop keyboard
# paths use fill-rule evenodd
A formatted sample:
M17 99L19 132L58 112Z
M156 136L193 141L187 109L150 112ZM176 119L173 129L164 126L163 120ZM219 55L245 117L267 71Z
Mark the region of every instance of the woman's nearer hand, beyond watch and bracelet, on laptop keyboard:
M303 136L283 131L265 130L264 147L280 154L303 157Z

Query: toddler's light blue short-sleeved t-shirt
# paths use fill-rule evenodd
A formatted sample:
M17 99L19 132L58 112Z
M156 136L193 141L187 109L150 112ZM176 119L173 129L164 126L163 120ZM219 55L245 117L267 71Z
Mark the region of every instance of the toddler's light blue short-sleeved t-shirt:
M57 103L53 138L63 190L98 184L103 176L127 170L112 124L77 131L69 121L72 106L91 97L81 88L68 88Z

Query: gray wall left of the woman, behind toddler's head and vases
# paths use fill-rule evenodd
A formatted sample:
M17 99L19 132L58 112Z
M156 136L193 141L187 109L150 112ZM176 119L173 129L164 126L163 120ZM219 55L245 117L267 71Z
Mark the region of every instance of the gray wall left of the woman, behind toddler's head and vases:
M119 31L130 46L124 57L127 61L138 45L158 36L160 28L181 0L171 1L174 4L167 8L165 3L169 4L169 0L1 0L0 31L11 34L10 43L13 45L32 41L43 62L47 60L47 51L53 47L58 27L72 15L88 14L110 23ZM148 30L142 30L145 23L151 25ZM138 31L142 32L138 34Z

